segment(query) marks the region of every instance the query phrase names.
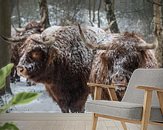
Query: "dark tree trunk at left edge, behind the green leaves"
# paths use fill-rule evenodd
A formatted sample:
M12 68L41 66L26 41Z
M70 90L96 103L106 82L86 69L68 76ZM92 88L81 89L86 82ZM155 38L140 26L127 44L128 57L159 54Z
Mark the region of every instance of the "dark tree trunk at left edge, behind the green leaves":
M0 0L0 35L10 37L11 36L11 1ZM10 44L5 43L0 39L0 68L7 65L10 62ZM9 78L6 83L5 89L0 91L0 95L5 92L11 93Z

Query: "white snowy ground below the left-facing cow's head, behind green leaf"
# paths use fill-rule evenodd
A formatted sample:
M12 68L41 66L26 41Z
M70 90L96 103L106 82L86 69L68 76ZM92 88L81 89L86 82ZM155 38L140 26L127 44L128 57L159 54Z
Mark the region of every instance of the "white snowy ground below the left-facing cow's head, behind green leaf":
M56 102L53 102L51 97L45 90L43 84L37 84L32 86L26 86L25 79L21 78L21 82L11 83L11 89L13 94L19 92L37 92L41 95L31 103L25 105L17 105L11 108L9 112L58 112L61 113L59 106ZM4 97L4 100L9 97Z

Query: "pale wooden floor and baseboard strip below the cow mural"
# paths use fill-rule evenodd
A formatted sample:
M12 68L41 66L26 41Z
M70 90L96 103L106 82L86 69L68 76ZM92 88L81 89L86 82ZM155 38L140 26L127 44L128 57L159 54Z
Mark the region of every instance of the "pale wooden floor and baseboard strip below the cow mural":
M20 130L91 130L91 117L91 113L9 113L0 116L0 124L14 122ZM119 122L100 118L97 130L123 129Z

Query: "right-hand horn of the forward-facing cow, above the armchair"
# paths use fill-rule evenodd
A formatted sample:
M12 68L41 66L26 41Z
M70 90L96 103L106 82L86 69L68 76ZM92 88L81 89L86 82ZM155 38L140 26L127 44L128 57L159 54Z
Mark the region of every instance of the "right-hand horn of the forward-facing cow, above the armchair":
M154 38L153 43L146 43L144 40L140 40L142 41L142 44L137 46L137 48L140 50L155 49L158 45L157 37Z

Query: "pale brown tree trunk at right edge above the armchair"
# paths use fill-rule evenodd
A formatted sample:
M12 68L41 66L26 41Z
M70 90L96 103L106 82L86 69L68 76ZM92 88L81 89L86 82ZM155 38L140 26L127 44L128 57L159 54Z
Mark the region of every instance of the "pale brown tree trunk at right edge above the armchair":
M154 5L154 25L155 35L158 39L158 47L155 55L158 61L158 67L163 67L163 31L162 31L162 14L161 14L161 0L153 0Z

